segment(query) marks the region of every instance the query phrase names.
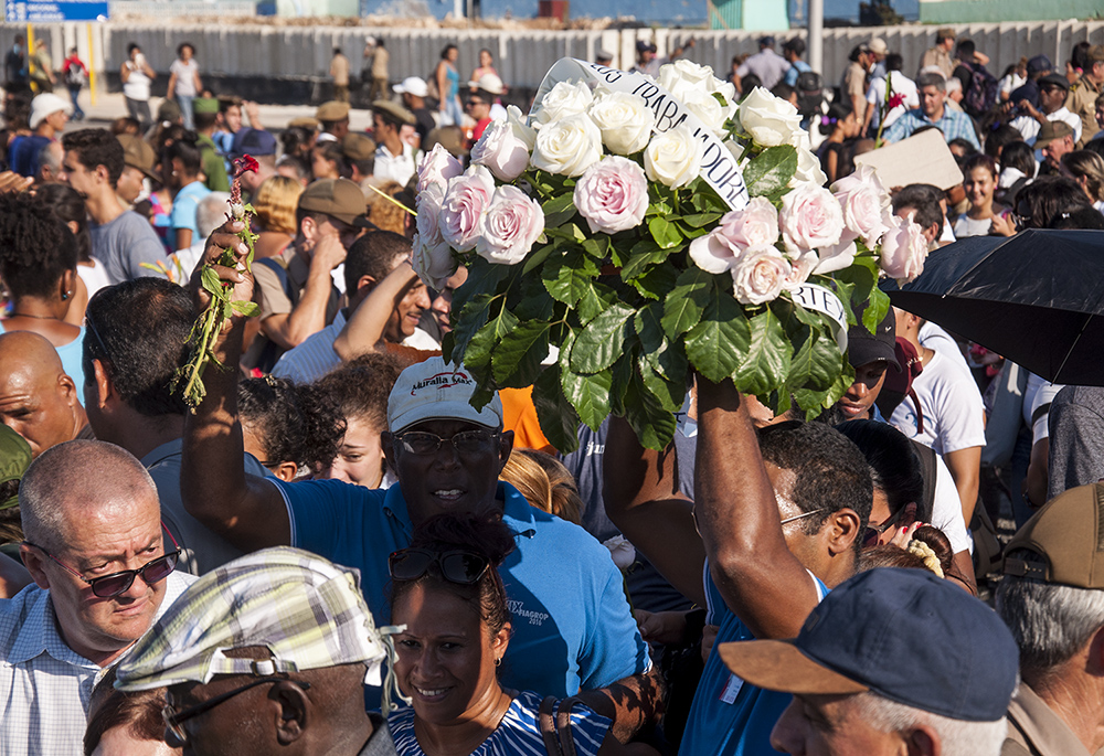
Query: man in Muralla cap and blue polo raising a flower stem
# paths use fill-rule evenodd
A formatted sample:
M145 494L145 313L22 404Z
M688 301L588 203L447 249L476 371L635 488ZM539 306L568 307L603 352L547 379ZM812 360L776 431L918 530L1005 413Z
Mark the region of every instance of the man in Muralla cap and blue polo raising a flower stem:
M215 233L205 258L216 257L219 246L245 252L235 236ZM219 271L236 284L234 299L250 298L247 277ZM224 364L237 363L244 321L233 318L216 344ZM503 685L563 696L648 669L647 648L608 552L581 528L531 508L499 482L513 433L502 430L497 395L479 412L470 406L475 382L463 369L435 358L403 371L388 403L383 444L399 476L388 491L246 476L236 377L208 370L204 382L206 396L185 427L181 494L185 509L230 543L246 551L294 545L357 567L369 607L384 625L388 556L410 544L413 526L440 512L497 510L518 544L501 568L514 627Z

